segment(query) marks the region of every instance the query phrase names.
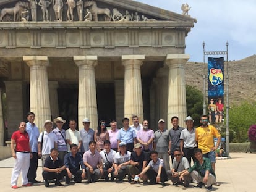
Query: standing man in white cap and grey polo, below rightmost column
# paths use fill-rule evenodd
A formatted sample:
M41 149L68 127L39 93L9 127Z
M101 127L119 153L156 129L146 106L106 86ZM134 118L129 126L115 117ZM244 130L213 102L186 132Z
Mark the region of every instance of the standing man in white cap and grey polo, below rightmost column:
M165 121L158 120L158 130L154 134L154 149L158 152L158 157L163 159L164 168L166 171L170 170L170 152L171 141L169 138L169 131L165 128Z

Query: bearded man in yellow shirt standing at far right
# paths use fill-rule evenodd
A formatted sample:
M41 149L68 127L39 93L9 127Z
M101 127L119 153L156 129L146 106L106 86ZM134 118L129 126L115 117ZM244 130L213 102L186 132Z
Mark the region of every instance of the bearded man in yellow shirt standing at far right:
M208 125L207 115L203 115L200 119L201 126L195 130L195 140L198 148L202 149L203 157L211 160L211 166L215 171L216 155L215 151L220 145L221 135L219 131L212 125ZM213 138L218 138L216 146Z

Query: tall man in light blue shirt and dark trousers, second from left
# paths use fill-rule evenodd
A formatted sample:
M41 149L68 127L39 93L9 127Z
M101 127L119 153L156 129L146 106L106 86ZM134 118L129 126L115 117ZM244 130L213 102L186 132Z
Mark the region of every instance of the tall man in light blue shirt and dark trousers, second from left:
M39 137L39 130L36 127L35 121L35 114L33 112L28 112L27 114L27 125L26 131L29 136L29 144L32 152L32 158L30 159L30 165L28 169L28 182L30 184L33 183L40 183L40 181L36 180L36 171L38 167L38 137Z

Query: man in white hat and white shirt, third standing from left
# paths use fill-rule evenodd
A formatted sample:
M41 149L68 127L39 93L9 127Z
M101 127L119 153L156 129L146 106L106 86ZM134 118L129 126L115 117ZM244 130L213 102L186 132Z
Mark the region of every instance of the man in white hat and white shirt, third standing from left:
M42 159L42 167L45 165L45 159L50 156L51 149L57 148L57 137L51 131L53 122L46 120L43 127L45 131L40 133L38 138L38 156Z

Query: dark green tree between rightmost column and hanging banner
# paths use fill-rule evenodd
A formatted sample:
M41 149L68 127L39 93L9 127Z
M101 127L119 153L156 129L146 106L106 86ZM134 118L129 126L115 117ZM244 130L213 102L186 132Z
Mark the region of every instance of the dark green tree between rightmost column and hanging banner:
M200 126L200 117L203 114L203 93L195 86L186 85L187 115L194 120L194 125Z

